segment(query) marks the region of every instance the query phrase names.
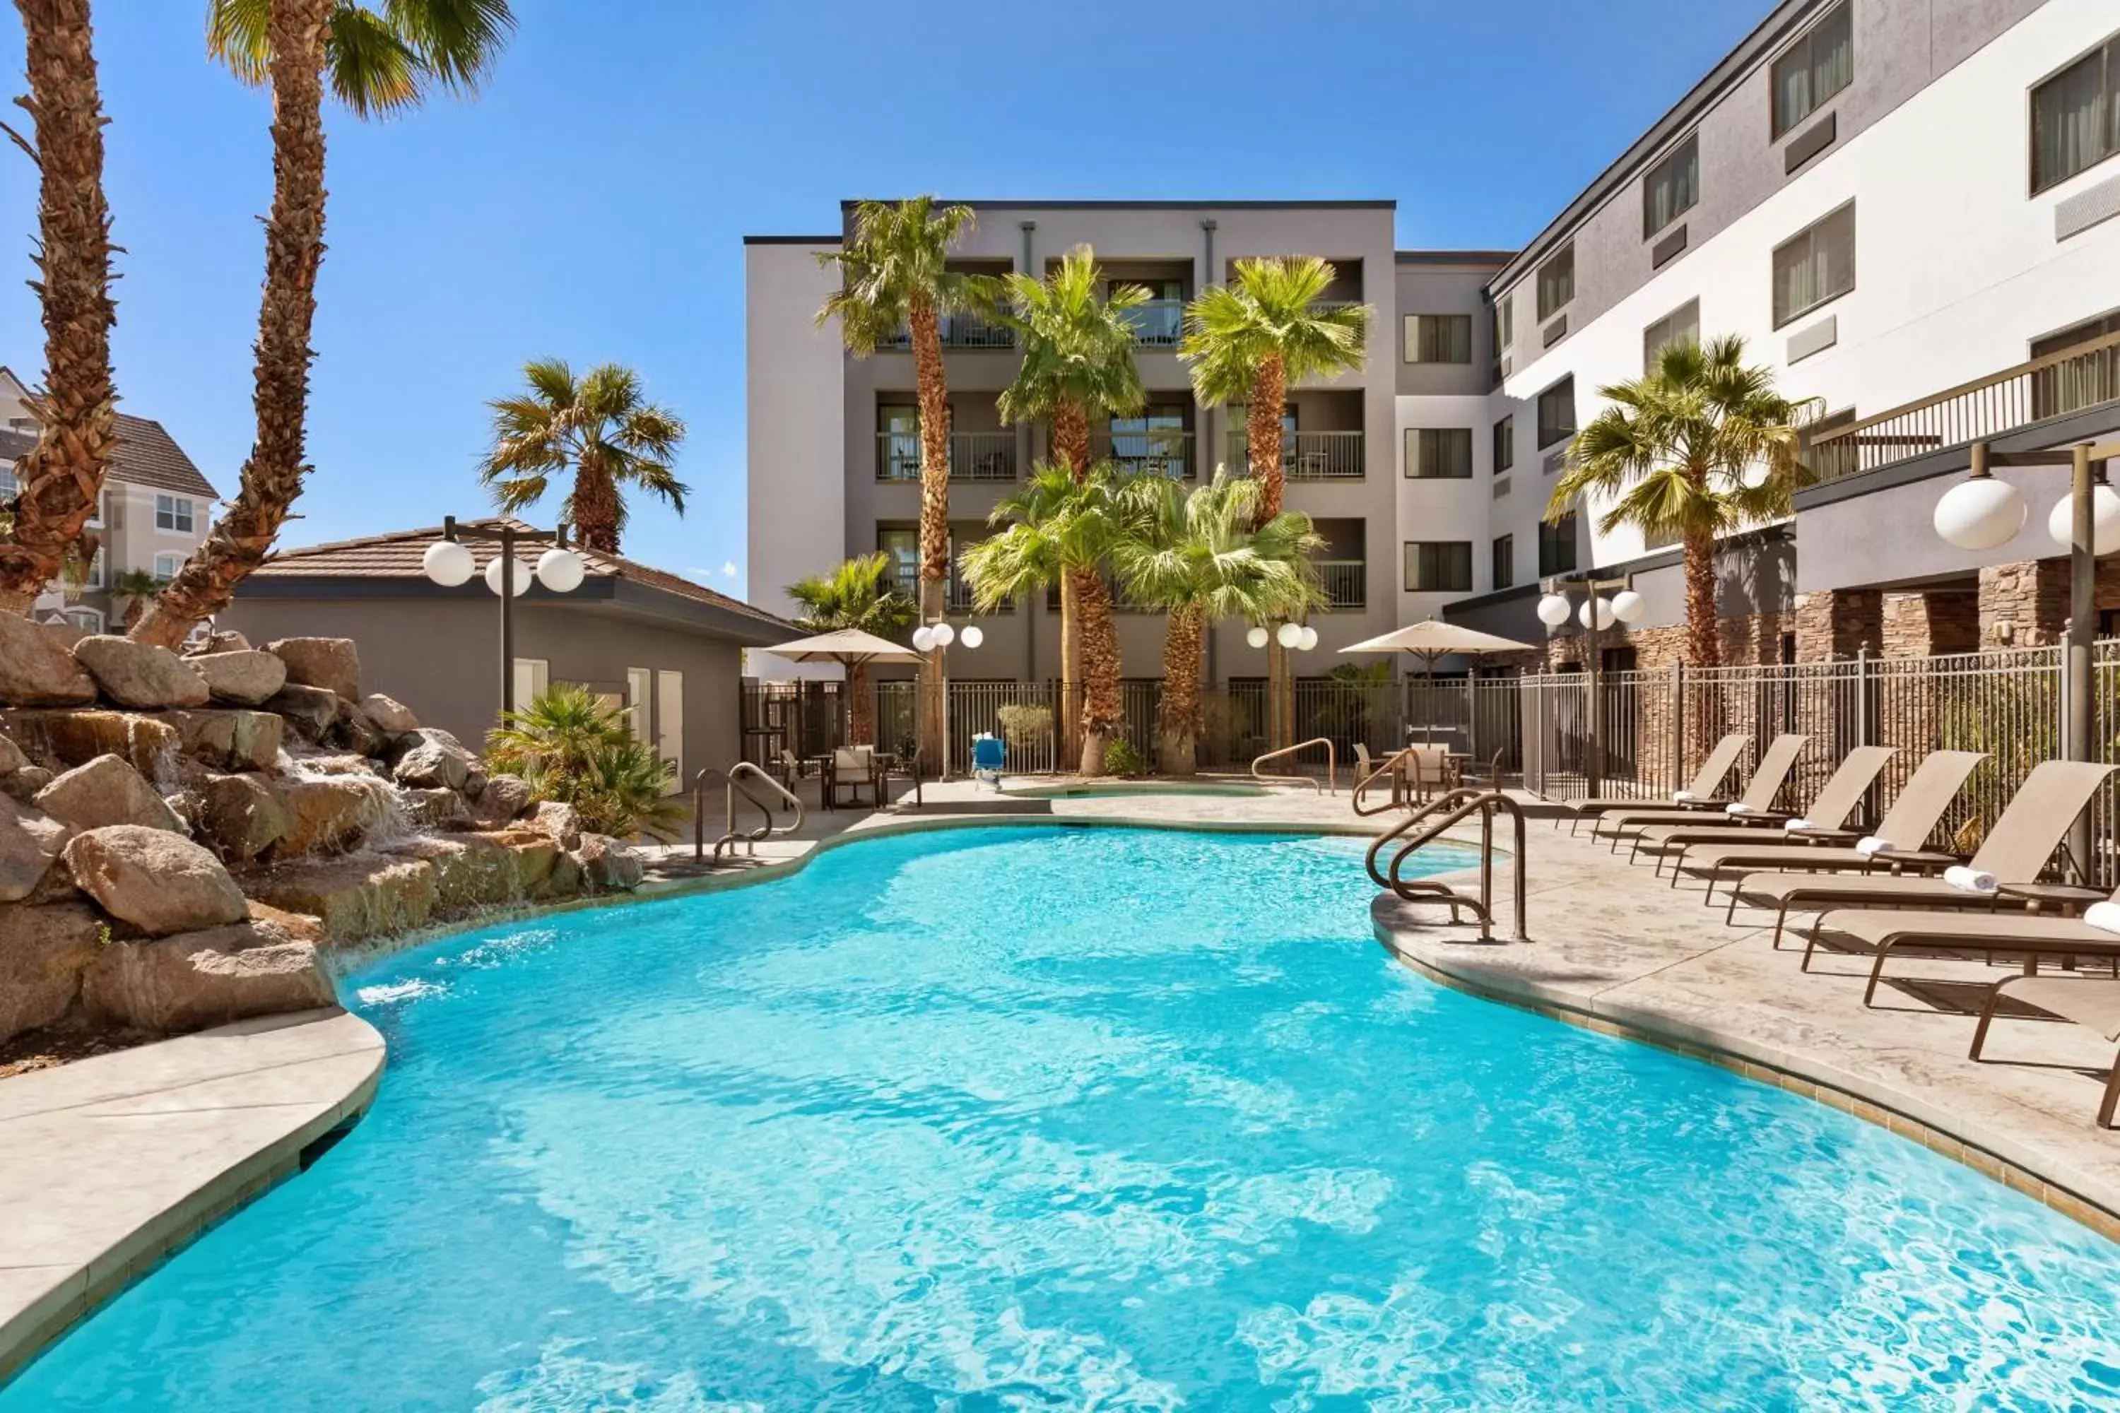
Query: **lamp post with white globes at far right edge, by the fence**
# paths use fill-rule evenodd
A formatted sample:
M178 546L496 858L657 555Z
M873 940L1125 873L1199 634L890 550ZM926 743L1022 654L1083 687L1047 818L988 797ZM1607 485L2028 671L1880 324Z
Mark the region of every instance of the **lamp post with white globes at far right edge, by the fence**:
M2099 555L2120 549L2120 494L2105 483L2105 464L2120 455L2120 441L2075 443L2046 451L1995 451L1984 441L1972 445L1967 477L1936 502L1936 534L1957 549L1997 549L2025 527L2025 491L1997 481L1995 466L2067 466L2069 494L2046 517L2046 534L2069 551L2069 636L2067 703L2061 716L2061 748L2069 761L2092 761L2095 669L2090 644L2099 631ZM2075 866L2090 877L2090 816L2069 828Z

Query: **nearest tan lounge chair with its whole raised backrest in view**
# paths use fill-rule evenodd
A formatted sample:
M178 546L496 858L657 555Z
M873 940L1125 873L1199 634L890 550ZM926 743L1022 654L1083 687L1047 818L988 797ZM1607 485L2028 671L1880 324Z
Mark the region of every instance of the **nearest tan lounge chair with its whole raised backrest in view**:
M1980 852L1965 866L1997 883L2035 883L2061 837L2069 833L2069 824L2084 811L2112 771L2114 767L2095 761L2042 761L2018 786L2016 799L2001 811ZM1732 911L1734 902L1774 909L1774 947L1781 947L1781 932L1791 911L1997 907L1993 890L1976 892L1948 879L1844 873L1749 873L1732 894ZM1810 943L1804 947L1806 970L1817 945L1819 934L1813 928Z

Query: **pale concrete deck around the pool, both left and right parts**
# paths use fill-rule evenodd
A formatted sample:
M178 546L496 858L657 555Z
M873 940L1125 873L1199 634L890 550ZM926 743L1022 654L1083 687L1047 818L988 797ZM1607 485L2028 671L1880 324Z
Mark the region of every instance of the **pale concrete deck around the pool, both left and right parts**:
M996 797L931 784L920 809L810 813L719 866L691 845L651 849L647 896L793 873L818 847L865 835L967 824L1107 822L1370 835L1401 816L1359 818L1346 788L1266 797ZM1505 839L1503 839L1505 841ZM1359 866L1350 860L1348 866ZM1509 869L1495 894L1507 924ZM1698 890L1671 892L1533 820L1526 837L1531 943L1476 943L1442 909L1389 896L1372 924L1439 983L1556 1019L1628 1034L1777 1083L1902 1131L2120 1239L2120 1133L2092 1112L2112 1044L2088 1030L1997 1021L1995 1063L1965 1057L1967 983L2006 968L1908 960L1923 985L1861 1006L1857 960L1817 974L1772 951L1764 926L1721 924ZM1738 913L1745 924L1745 913ZM384 1044L341 1010L273 1017L98 1055L0 1080L0 1381L220 1216L299 1171L303 1152L358 1116Z

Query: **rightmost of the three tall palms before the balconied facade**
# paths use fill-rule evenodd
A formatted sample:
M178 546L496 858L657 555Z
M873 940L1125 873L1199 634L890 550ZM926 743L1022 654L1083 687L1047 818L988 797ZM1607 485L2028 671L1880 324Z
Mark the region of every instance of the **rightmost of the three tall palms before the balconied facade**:
M1367 358L1370 305L1325 303L1333 267L1317 256L1238 261L1236 280L1200 290L1185 307L1179 358L1191 364L1206 407L1244 403L1244 451L1259 483L1259 519L1280 515L1280 417L1289 383L1359 369ZM1289 650L1266 646L1266 735L1287 746L1295 720Z

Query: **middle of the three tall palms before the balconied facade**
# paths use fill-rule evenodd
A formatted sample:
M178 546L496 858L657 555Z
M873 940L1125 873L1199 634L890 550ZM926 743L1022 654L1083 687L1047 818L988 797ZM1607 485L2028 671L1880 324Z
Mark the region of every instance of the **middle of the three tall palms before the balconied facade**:
M1119 284L1098 299L1102 278L1105 271L1096 267L1090 246L1075 246L1043 280L1015 271L1003 282L1007 294L1003 322L1015 328L1024 345L1024 364L994 405L1003 422L1045 419L1052 426L1054 455L1077 479L1090 472L1090 417L1094 413L1128 417L1149 398L1134 364L1134 326L1126 318L1147 301L1149 292L1138 284ZM1081 676L1081 580L1077 574L1064 574L1060 578L1062 710L1075 705L1075 682ZM1109 612L1109 597L1092 602ZM1102 633L1105 627L1094 631ZM1115 725L1117 720L1096 722L1096 729L1111 731ZM1073 741L1085 727L1088 722L1066 722L1062 739Z

